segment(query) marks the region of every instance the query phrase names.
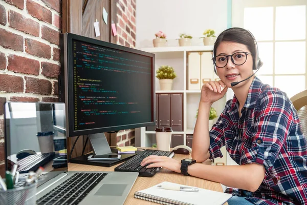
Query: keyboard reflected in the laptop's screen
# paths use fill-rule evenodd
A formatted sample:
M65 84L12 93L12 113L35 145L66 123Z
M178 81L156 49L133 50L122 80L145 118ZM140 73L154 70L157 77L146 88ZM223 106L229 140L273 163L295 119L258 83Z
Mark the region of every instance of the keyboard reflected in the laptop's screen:
M50 153L29 155L17 162L17 171L20 174L28 173L29 171L35 172L39 167L43 167L52 160L53 156L54 154Z

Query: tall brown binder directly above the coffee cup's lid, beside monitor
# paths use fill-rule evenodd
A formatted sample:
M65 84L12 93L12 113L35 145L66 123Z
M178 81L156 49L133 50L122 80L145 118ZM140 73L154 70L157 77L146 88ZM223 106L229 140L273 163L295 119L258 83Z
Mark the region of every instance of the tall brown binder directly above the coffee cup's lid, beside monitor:
M170 94L159 95L159 127L170 127Z

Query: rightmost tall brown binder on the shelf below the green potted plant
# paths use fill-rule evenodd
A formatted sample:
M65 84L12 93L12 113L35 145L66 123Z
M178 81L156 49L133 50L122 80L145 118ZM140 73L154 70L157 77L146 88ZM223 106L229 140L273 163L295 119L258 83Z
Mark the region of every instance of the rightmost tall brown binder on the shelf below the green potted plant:
M183 93L170 95L170 127L172 131L183 131Z

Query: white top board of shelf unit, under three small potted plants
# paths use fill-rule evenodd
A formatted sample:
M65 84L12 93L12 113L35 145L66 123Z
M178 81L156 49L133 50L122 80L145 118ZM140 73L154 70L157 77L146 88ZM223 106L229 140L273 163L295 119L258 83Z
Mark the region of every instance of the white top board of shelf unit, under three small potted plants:
M183 51L212 51L213 46L174 46L174 47L152 47L152 48L139 48L140 50L149 53L160 52L183 52Z

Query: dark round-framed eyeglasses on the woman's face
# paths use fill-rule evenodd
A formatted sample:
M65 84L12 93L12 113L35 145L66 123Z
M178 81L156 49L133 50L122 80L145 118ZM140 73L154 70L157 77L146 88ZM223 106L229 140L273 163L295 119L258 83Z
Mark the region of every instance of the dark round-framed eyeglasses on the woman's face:
M227 65L228 57L230 56L232 63L240 66L246 62L248 54L249 53L247 52L237 52L232 55L218 55L213 57L211 60L213 60L213 63L217 68L223 68Z

